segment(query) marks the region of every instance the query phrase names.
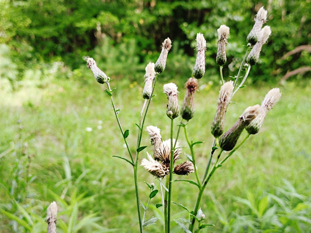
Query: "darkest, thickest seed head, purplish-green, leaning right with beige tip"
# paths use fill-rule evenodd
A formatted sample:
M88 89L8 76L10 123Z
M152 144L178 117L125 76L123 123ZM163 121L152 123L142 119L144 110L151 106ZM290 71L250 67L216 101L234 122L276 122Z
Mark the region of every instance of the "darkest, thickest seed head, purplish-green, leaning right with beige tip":
M230 151L234 148L244 128L257 117L259 109L258 104L245 109L234 125L219 138L221 149Z

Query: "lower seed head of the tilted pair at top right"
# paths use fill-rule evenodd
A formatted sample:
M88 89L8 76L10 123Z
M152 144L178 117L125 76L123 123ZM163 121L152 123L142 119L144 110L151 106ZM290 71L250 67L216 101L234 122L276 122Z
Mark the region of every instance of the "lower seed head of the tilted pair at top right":
M250 65L255 65L258 62L260 51L262 45L267 42L269 36L271 35L271 29L269 26L264 26L260 31L258 42L254 45L250 53L246 58L246 62Z

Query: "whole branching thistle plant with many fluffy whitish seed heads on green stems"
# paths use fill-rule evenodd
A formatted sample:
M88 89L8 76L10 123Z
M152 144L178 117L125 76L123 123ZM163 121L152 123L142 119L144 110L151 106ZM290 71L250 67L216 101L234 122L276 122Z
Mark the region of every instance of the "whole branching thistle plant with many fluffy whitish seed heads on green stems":
M149 105L152 98L154 97L153 92L156 85L157 77L160 73L165 70L166 60L168 52L171 48L171 40L169 38L165 39L162 43L162 51L156 63L148 63L146 66L145 85L142 92L142 111L140 114L140 123L136 124L138 127L138 136L137 136L137 145L136 145L136 156L132 155L132 151L127 143L127 137L129 136L129 130L123 130L119 117L118 110L115 107L113 101L113 93L115 89L110 88L110 78L104 74L97 66L95 61L92 58L87 60L87 66L91 68L96 80L101 84L106 84L105 92L109 95L111 103L114 109L115 117L118 122L123 140L128 149L129 158L118 157L126 162L128 162L134 169L134 185L136 191L136 203L137 203L137 213L138 213L138 222L140 226L140 232L143 232L143 227L148 226L149 224L155 223L158 218L152 217L148 220L145 220L146 212L148 207L151 204L151 199L159 192L156 189L155 184L148 185L150 189L150 195L146 206L139 199L139 190L138 190L138 164L143 167L147 172L149 172L155 179L159 182L160 195L162 204L156 204L156 208L162 206L164 213L164 229L165 233L169 233L171 230L171 205L175 203L172 201L172 193L174 192L173 186L173 176L192 176L194 173L195 180L185 180L177 179L180 181L185 181L191 184L194 184L198 188L197 200L194 203L193 211L189 211L189 219L184 219L183 222L189 222L189 226L186 226L183 222L179 220L174 220L182 229L186 232L199 232L202 229L213 226L211 223L205 223L206 218L203 213L200 203L203 198L204 191L206 186L215 173L215 171L224 167L224 162L230 158L230 156L248 139L252 134L258 133L262 127L263 121L267 116L267 112L275 105L275 103L280 99L281 93L278 88L274 88L266 95L261 106L254 105L247 107L245 111L240 115L236 120L233 126L229 126L228 130L225 131L227 127L225 124L226 112L230 108L230 103L232 102L234 95L239 89L241 89L248 78L248 74L253 65L255 65L260 56L260 51L264 43L267 42L271 34L269 26L262 28L263 23L265 23L267 17L267 11L263 7L258 11L258 14L255 19L255 25L248 35L248 38L245 38L245 43L247 44L245 56L240 64L239 71L236 76L233 77L234 80L227 81L223 78L222 75L222 66L226 63L226 48L225 45L228 43L229 27L226 25L221 25L217 30L218 32L218 50L216 56L216 63L220 66L220 80L221 87L219 88L219 98L217 103L216 115L211 125L211 134L214 136L214 140L211 144L211 152L209 153L209 158L206 163L206 168L204 176L199 177L200 167L196 166L196 156L195 156L195 145L203 143L203 141L193 142L188 137L187 126L190 123L196 123L195 114L194 114L194 93L198 89L199 83L198 79L201 79L205 73L205 50L206 50L206 41L203 34L197 34L197 59L193 68L193 78L189 78L185 83L185 96L183 99L183 104L179 110L179 100L178 100L178 87L174 83L168 83L163 86L163 92L166 94L168 99L166 107L166 115L170 120L170 138L163 140L160 134L160 128L157 126L147 126L145 128L145 120ZM247 61L247 63L245 63ZM242 68L245 68L245 73L242 71ZM243 73L243 75L242 75ZM242 81L239 82L240 75L243 77ZM145 109L146 107L146 109ZM165 109L163 109L165 111ZM174 120L180 117L180 122L178 124L177 133L174 137ZM191 120L190 122L190 119ZM160 127L160 126L159 126ZM181 128L183 128L184 137L188 144L188 149L190 150L190 155L187 155L187 159L183 160L181 154L182 146L179 145L178 138ZM246 129L247 134L244 139L239 140L244 129ZM149 138L151 140L151 146L153 146L153 153L146 152L146 156L141 159L139 162L140 152L145 149L147 146L141 146L142 134L146 130ZM183 149L186 150L187 148ZM213 160L214 154L216 158ZM222 156L222 153L225 153L225 156ZM182 161L182 162L180 162ZM178 177L178 176L177 176ZM164 182L165 181L165 182ZM177 203L175 203L177 204ZM187 209L182 204L180 205L183 209ZM141 214L141 207L143 208L143 217ZM196 229L195 229L196 227Z

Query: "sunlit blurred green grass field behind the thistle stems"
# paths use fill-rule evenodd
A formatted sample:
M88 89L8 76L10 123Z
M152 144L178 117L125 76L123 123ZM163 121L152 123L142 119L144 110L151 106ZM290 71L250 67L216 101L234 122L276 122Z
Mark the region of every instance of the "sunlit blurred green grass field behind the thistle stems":
M169 139L167 100L160 83L159 79L145 126L158 126L162 138ZM281 100L260 132L251 135L216 171L201 202L205 223L215 226L201 232L311 232L310 84L308 80L281 86ZM112 80L111 86L117 87L115 102L134 152L142 84ZM228 108L225 129L246 107L260 104L273 87L264 84L239 90L233 99L237 104ZM182 86L179 91L181 104ZM204 141L195 148L200 177L213 140L210 126L218 91L219 85L206 85L196 93L195 117L188 124L190 138ZM58 232L138 232L133 171L125 161L111 157L128 158L128 154L103 86L95 80L53 80L44 88L26 89L23 95L2 94L0 107L0 232L27 232L25 222L31 232L46 232L46 208L53 200L59 208ZM175 120L175 134L179 121ZM91 132L86 131L88 127ZM183 134L179 139L181 145L187 144ZM23 153L25 143L28 148ZM152 152L146 132L142 145ZM184 152L189 153L189 148L182 152L186 159ZM140 197L146 203L149 189L144 181L157 187L159 183L142 167L138 177ZM195 179L194 174L187 178ZM182 182L173 185L173 201L192 210L196 187ZM161 203L159 194L152 199L147 218L162 219L156 203ZM172 219L188 218L177 205L172 214ZM145 232L163 232L163 221L145 227ZM172 232L182 232L175 222Z

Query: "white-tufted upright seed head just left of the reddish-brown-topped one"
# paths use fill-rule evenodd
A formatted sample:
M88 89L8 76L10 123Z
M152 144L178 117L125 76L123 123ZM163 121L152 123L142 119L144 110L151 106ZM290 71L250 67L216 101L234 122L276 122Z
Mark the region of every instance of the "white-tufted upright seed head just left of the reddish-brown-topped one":
M163 85L163 93L167 95L169 103L166 108L166 115L174 119L179 116L179 105L178 105L178 91L177 86L174 83L168 83Z

